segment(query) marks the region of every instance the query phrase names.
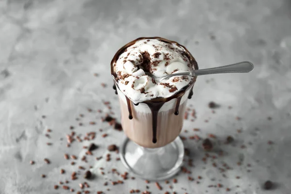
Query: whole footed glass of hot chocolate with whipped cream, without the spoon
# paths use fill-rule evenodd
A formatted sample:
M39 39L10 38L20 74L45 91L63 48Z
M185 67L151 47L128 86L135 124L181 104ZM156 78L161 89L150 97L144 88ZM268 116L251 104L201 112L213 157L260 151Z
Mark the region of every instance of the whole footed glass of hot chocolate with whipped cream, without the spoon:
M138 38L113 57L113 88L128 137L120 146L120 158L136 176L159 180L179 171L184 146L178 135L196 77L156 81L151 75L162 77L192 69L198 65L190 52L160 37Z

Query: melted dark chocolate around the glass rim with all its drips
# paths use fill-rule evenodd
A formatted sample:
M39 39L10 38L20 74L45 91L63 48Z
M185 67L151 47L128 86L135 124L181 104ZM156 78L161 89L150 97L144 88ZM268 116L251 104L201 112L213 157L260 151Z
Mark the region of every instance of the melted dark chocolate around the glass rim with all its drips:
M170 44L176 44L180 47L182 47L183 49L185 49L186 51L186 55L188 57L188 59L190 60L190 64L192 65L192 68L194 69L198 69L198 65L196 60L194 59L194 57L192 56L192 54L182 45L180 45L179 43L175 42L175 41L170 41L161 37L141 37L138 38L136 40L133 40L131 42L129 42L128 44L126 44L125 46L123 46L121 49L119 49L116 54L114 55L112 61L111 61L111 75L113 76L113 80L114 80L114 85L113 85L113 89L115 90L115 94L117 94L117 90L116 87L118 87L118 82L116 81L117 75L114 72L114 64L116 63L116 61L118 60L118 57L121 53L123 53L124 51L126 51L126 49L128 47L130 47L131 45L134 45L137 41L139 40L143 40L143 39L158 39L160 41L166 42L166 43L170 43ZM146 100L140 103L145 103L148 108L150 109L151 113L152 113L152 130L153 130L153 143L157 143L157 125L158 125L158 113L159 110L161 109L162 105L165 102L170 101L173 98L177 98L176 101L176 105L175 105L175 115L179 114L179 105L180 105L180 101L181 98L184 96L184 94L190 89L191 91L189 92L188 95L188 99L191 99L191 97L193 96L193 86L194 83L196 81L197 76L195 76L188 85L186 85L184 88L182 88L178 93L176 93L175 95L171 96L171 97L157 97L151 100ZM118 88L119 89L119 88ZM127 105L128 105L128 109L129 109L129 119L132 119L132 110L131 110L131 101L130 99L125 95L126 97L126 101L127 101ZM138 106L139 103L134 104L135 106Z

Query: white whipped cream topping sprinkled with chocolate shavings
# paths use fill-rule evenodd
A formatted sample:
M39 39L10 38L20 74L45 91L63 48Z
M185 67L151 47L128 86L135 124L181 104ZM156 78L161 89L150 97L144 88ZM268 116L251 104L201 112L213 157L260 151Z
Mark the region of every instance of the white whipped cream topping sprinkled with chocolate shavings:
M156 82L146 75L162 77L192 69L187 52L175 43L142 39L128 47L113 64L116 81L134 103L157 97L171 97L188 85L190 76L173 76Z

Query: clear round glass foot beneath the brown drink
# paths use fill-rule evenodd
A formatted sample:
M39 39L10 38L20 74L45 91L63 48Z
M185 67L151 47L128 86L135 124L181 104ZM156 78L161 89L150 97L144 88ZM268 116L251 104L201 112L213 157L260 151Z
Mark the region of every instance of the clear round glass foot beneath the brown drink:
M183 163L184 145L177 137L159 148L139 146L126 138L120 146L120 158L135 176L147 180L162 180L174 176Z

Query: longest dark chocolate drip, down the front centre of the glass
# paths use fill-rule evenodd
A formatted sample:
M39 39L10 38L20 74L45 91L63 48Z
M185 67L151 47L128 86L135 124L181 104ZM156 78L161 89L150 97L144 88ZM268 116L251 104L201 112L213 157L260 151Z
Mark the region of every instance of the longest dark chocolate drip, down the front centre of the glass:
M152 113L153 143L157 143L158 113L165 102L143 102Z

